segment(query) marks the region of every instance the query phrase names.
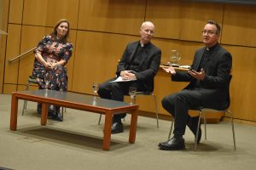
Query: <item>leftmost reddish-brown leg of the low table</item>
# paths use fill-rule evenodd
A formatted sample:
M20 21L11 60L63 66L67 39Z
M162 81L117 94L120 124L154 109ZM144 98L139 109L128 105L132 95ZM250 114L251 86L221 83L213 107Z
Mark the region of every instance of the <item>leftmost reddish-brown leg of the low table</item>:
M11 116L10 116L10 130L17 129L17 115L18 115L18 99L15 94L12 94L12 103L11 103Z

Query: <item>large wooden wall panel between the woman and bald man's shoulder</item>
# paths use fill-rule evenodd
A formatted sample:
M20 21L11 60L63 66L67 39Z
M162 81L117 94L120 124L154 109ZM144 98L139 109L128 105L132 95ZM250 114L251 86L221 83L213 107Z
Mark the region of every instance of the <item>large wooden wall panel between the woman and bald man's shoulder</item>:
M115 77L116 66L128 42L138 37L78 31L73 68L74 92L92 94L92 82Z

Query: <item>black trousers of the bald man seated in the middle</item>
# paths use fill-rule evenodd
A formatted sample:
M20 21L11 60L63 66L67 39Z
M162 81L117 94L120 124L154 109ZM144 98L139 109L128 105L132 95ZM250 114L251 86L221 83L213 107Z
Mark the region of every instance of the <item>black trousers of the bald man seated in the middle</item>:
M136 87L137 91L143 92L146 91L146 88L143 85L143 82L129 81L129 82L112 82L116 78L112 78L107 82L103 82L98 90L98 94L103 99L113 99L118 101L124 101L124 96L129 94L130 87ZM125 113L114 115L113 122L121 123L121 118L126 116Z

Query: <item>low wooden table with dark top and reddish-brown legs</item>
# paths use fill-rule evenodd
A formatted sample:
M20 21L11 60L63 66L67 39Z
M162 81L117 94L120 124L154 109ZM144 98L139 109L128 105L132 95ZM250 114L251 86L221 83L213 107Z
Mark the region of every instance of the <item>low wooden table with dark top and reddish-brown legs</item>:
M46 125L48 116L48 105L59 105L81 111L91 111L105 115L104 135L102 150L109 150L111 139L112 117L115 114L131 112L131 125L129 143L133 144L136 139L137 109L138 105L111 99L101 99L86 94L75 94L70 92L58 92L54 90L30 90L14 92L11 101L10 130L17 129L18 100L25 99L42 103L41 125Z

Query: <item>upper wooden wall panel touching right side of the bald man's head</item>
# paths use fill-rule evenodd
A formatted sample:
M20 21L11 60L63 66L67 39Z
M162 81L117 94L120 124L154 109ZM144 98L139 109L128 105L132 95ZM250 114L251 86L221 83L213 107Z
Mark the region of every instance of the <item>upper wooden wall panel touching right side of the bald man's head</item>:
M178 1L148 0L146 20L151 20L155 27L155 37L178 39L181 29L182 6Z

